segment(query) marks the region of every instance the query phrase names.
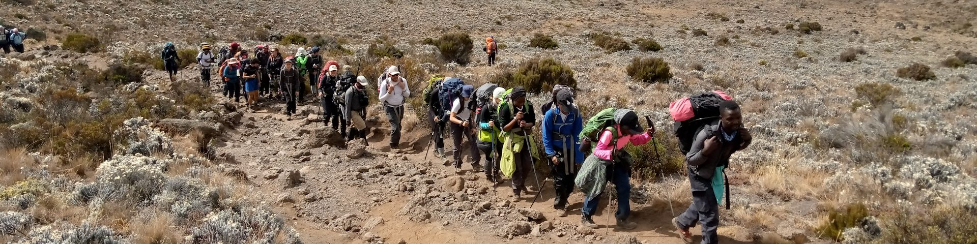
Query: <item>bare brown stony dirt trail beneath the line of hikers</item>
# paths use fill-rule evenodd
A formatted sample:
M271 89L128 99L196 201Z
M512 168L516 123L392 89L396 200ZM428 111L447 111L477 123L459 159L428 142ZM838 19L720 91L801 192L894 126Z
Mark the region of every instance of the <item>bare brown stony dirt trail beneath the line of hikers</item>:
M195 79L194 70L185 70L179 75L180 79ZM165 74L154 73L154 80L163 80ZM160 83L167 83L162 81ZM219 102L227 101L220 94L217 84L212 85L212 91ZM233 101L233 100L232 100ZM242 98L243 101L243 98ZM345 155L346 149L336 148L326 145L319 148L304 149L301 144L308 135L299 135L302 132L318 128L321 122L311 122L307 124L307 116L302 119L287 120L279 110L283 106L282 102L270 101L262 102L253 112L244 111L241 119L242 125L231 129L227 134L225 142L216 143L218 154L233 154L235 164L226 164L227 167L239 167L246 172L250 178L246 183L254 186L253 197L259 201L269 202L276 205L276 212L286 220L290 220L303 236L307 243L370 243L362 235L367 233L367 229L355 229L361 232L347 231L342 227L336 227L335 222L342 220L342 216L356 215L357 220L367 220L372 218L382 218L383 224L378 224L368 233L380 236L384 243L397 243L403 239L406 243L588 243L601 242L601 240L614 240L618 235L633 235L642 243L663 243L681 244L681 239L673 231L669 220L671 215L667 208L654 207L650 204L632 203L632 221L639 224L633 230L608 229L605 224L613 224L613 218L607 218L606 214L616 210L616 202L610 210L607 209L608 201L602 201L599 213L594 217L594 221L601 227L595 229L593 236L587 238L569 238L576 235L575 227L579 224L580 208L582 207L583 194L574 192L570 201L572 202L571 211L568 217L558 217L552 208L554 192L553 183L549 179L544 181L544 187L539 199L532 205L532 209L540 211L545 220L557 226L556 228L543 231L540 236L520 235L509 239L500 236L497 229L489 224L468 224L452 223L450 221L432 218L426 223L414 223L407 218L398 216L397 213L404 207L411 196L416 192L393 192L390 193L388 185L376 183L359 183L354 179L351 172L356 172L358 168L369 167L373 163L389 162L391 168L397 169L403 166L413 166L426 169L429 176L435 176L435 181L441 181L447 177L457 176L453 173L451 166L445 166L433 154L427 155L425 160L427 143L429 142L428 132L423 128L416 128L404 131L403 144L406 149L400 153L390 153L387 140L389 140L389 128L386 121L377 119L382 114L373 114L371 133L368 135L369 146L368 156L351 160ZM299 113L318 113L318 102L308 101L298 106ZM313 115L312 118L318 117ZM370 118L368 118L370 119ZM446 150L451 147L450 139L446 139ZM433 150L433 149L430 149ZM297 151L297 152L296 152ZM308 151L305 156L296 157ZM449 156L448 156L449 157ZM468 159L468 156L465 157ZM299 170L303 169L302 178L305 181L295 187L282 187L276 180L267 180L266 175L270 170ZM483 173L473 173L469 164L463 166L464 177L471 178L471 175L478 177L476 181L466 181L468 184L475 184L475 187L491 186L484 178ZM540 172L540 175L544 173ZM531 180L531 188L535 186ZM506 201L511 197L511 188L508 182L501 183L494 190L489 189L487 194L480 199L485 199L493 204ZM296 193L299 191L301 193ZM305 191L305 192L303 192ZM310 193L311 192L311 193ZM535 193L534 191L532 193ZM276 200L281 195L289 195L292 202L280 202ZM319 199L308 202L307 198L311 195L318 196ZM377 200L379 199L379 200ZM521 202L512 203L515 207L529 208L532 195L524 195ZM686 206L675 206L675 211L681 213ZM337 217L339 217L337 219ZM329 224L333 222L331 225ZM359 221L358 221L359 222ZM447 223L446 223L447 222ZM609 223L610 222L610 223ZM359 223L358 223L359 224ZM504 223L500 223L504 224ZM613 227L613 226L612 226ZM720 234L723 243L752 243L749 241L748 234L737 231L738 228L721 226ZM694 238L698 241L700 229L697 227L692 230ZM561 233L562 236L558 236ZM729 234L724 234L729 233ZM580 237L580 235L576 235ZM735 237L734 237L735 236ZM376 240L376 239L374 239Z

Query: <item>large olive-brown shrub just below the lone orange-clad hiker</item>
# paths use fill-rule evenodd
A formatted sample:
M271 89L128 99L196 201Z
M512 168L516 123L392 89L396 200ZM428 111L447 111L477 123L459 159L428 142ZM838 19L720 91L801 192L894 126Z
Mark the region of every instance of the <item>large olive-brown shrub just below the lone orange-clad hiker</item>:
M492 79L501 87L522 86L530 93L548 92L554 85L564 85L576 89L573 69L563 62L546 59L532 59L520 64L515 72L506 72Z

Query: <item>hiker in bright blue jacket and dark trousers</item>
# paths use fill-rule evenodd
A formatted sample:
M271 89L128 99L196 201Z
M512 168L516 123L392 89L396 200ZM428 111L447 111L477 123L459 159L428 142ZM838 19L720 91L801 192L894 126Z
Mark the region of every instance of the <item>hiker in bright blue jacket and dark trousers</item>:
M550 108L543 115L543 149L556 190L553 208L558 216L567 217L567 199L573 192L573 180L584 159L583 152L576 146L580 132L583 131L583 119L576 104L573 104L572 92L558 91L554 103L556 107Z

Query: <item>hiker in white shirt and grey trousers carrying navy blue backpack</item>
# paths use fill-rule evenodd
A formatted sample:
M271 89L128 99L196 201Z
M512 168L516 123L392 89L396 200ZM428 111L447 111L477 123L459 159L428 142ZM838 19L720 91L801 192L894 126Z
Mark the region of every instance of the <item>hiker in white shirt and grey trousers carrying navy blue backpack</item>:
M455 78L457 79L457 78ZM472 85L465 85L461 87L461 97L451 102L451 112L448 116L448 121L451 122L451 140L454 142L454 152L451 154L454 156L454 174L461 173L461 151L464 150L461 145L461 140L468 140L469 153L472 154L472 171L481 172L482 165L479 165L479 161L482 161L481 154L479 154L478 143L475 141L475 134L472 134L472 110L475 109L475 100L472 96L475 95L475 87Z

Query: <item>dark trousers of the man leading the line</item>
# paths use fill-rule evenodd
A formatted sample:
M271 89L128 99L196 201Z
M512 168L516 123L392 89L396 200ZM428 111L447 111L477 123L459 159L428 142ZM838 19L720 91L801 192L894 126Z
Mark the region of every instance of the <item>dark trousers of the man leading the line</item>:
M702 179L698 175L689 171L689 177L693 178L692 181L697 181L700 183L694 183L697 185L704 185L705 190L693 190L692 191L692 204L689 205L689 209L685 210L678 216L676 221L680 227L691 228L695 227L696 223L702 224L702 244L713 244L719 243L719 234L716 233L716 229L719 228L719 203L716 201L716 194L712 190L712 183L708 179Z

